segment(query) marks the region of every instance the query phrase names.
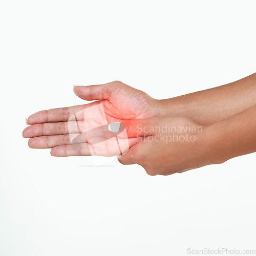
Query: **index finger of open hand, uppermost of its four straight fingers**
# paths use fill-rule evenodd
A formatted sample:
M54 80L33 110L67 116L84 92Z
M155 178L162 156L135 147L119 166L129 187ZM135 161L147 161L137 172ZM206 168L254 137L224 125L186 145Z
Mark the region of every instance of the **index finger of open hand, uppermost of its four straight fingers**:
M69 106L67 108L51 109L51 110L42 110L30 115L26 122L27 124L35 123L49 123L49 122L63 122L68 121L69 118L75 113L87 109L90 106L99 104L100 101L95 101L89 104ZM75 121L75 120L74 120Z

